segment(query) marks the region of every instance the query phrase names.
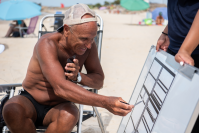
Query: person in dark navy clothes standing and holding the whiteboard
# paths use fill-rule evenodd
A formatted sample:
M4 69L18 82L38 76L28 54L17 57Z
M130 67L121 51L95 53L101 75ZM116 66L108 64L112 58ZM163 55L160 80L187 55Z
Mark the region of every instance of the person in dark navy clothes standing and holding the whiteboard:
M199 68L199 0L168 0L168 25L160 35L156 50L175 56L180 63ZM199 117L192 133L199 132Z

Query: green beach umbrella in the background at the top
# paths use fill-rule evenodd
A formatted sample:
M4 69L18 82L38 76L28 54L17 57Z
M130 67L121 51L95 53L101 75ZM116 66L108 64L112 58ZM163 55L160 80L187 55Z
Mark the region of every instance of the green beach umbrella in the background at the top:
M149 8L144 0L120 0L120 5L130 11L140 11Z

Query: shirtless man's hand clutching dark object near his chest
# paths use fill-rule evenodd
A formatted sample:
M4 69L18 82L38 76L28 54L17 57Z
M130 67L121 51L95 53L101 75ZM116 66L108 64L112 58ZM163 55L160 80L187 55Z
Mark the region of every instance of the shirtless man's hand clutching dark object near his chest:
M70 79L70 80L76 81L80 66L79 66L78 59L74 59L73 61L74 61L74 63L66 64L65 70L71 71L71 73L65 72L65 76L67 76L68 79Z

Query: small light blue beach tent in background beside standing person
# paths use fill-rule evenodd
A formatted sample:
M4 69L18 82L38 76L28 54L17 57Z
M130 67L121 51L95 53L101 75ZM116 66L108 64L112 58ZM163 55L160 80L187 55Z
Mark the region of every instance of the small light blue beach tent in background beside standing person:
M158 7L152 11L152 19L156 20L156 17L159 15L159 12L162 12L164 19L168 20L167 17L167 7Z

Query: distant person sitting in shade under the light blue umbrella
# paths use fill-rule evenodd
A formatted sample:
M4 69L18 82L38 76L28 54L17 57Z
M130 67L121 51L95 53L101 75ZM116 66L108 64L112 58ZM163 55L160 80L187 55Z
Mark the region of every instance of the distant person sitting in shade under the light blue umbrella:
M13 24L13 23L10 24L10 27L9 27L5 37L10 37L11 35L13 37L19 37L20 36L19 29L15 28L15 27L17 27L17 26L27 27L24 20L14 20L13 22L15 22L15 24ZM24 31L26 32L26 30L24 30Z

